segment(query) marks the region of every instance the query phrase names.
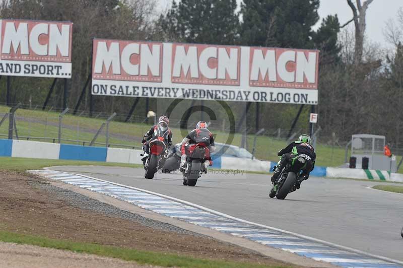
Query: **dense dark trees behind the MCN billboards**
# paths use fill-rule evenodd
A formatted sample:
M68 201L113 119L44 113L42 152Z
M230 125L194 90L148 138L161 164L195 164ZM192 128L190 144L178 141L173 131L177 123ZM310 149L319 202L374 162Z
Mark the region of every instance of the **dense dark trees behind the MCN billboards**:
M341 24L337 15L329 15L316 29L320 0L243 0L240 7L236 0L174 0L166 10L161 10L156 0L4 0L0 17L74 22L69 107L76 105L91 72L93 37L319 49L319 104L315 111L322 141L334 136L347 141L354 133L374 133L399 146L403 142L403 112L399 109L403 97L403 34L399 30L403 28L403 12L397 14L397 23L385 26L385 36L393 46L385 51L366 40L365 15L372 2L343 1L341 5L352 11L352 19ZM41 105L51 83L51 79L13 77L11 101ZM62 89L63 83L57 82L49 105L62 106ZM3 103L5 91L2 79ZM89 109L89 100L87 93L81 110ZM134 101L93 96L93 107L95 111L127 114ZM145 116L147 108L163 112L159 111L160 101L141 99L134 116ZM185 113L190 103L184 101L180 111ZM245 114L242 126L250 132L260 127L290 128L300 109L299 105L274 103L228 104L239 123ZM309 112L310 107L303 107L296 128L308 127Z

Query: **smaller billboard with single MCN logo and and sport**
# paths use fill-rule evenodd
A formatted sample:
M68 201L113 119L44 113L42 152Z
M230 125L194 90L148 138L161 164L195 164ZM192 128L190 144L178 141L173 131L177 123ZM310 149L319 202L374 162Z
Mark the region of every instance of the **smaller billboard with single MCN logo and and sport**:
M72 77L72 22L0 20L0 76Z

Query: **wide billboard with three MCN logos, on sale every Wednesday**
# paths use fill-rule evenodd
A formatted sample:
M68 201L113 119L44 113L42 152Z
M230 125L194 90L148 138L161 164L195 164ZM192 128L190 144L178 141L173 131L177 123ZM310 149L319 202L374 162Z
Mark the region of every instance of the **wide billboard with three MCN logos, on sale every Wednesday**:
M92 94L317 104L319 51L94 39Z

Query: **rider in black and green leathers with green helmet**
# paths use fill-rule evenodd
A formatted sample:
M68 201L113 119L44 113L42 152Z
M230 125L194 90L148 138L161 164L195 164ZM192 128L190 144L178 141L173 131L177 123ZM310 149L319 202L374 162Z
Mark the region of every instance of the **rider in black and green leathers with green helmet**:
M298 141L289 144L283 150L278 152L281 160L277 164L276 170L272 176L272 182L275 182L283 170L284 166L298 157L303 157L306 160L306 165L302 169L302 174L296 182L296 188L299 189L301 182L309 178L310 172L315 167L316 154L315 149L311 145L311 137L306 134L301 135Z

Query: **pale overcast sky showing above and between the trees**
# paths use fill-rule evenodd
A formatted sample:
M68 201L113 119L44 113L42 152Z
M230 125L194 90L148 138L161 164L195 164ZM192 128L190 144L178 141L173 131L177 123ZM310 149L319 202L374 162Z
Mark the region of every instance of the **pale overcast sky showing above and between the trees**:
M167 5L170 5L172 0L159 1L161 7L166 8ZM241 0L237 0L237 2L239 6ZM362 3L363 2L364 0L362 0ZM400 7L403 7L403 0L374 0L371 3L367 11L366 29L366 35L371 40L371 42L380 43L382 46L386 45L386 41L384 40L382 33L383 29L385 28L385 22L389 19L395 19L397 10ZM320 0L320 21L318 22L316 27L320 25L322 18L325 18L329 14L337 14L340 20L340 24L344 24L351 18L353 18L353 13L350 7L347 5L346 0ZM353 27L353 25L351 25L350 27Z

